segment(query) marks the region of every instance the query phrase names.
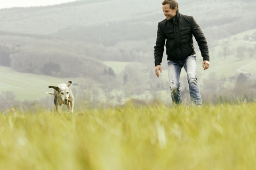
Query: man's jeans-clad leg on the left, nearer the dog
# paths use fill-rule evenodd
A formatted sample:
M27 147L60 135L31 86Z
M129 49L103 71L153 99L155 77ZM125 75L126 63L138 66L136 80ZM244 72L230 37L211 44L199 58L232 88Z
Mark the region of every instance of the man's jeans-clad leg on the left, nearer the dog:
M182 99L180 95L180 72L182 63L168 61L168 75L170 81L170 89L172 101L175 104L181 104Z

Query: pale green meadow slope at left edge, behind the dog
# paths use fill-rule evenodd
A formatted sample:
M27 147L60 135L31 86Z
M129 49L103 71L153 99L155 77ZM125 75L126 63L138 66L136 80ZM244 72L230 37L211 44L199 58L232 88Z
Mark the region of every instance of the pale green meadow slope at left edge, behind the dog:
M83 79L74 78L54 78L47 75L35 75L28 73L19 73L13 71L10 67L0 66L0 85L2 91L13 91L16 99L19 100L37 100L47 95L45 92L52 92L48 86L56 86L60 83L67 83L69 80L73 83L81 84ZM76 88L73 86L72 88Z

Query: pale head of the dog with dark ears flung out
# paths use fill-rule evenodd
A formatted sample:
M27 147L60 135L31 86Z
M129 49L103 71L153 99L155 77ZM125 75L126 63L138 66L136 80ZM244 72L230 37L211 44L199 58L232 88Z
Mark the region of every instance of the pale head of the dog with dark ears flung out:
M72 84L71 81L69 81L67 84L63 83L63 84L59 84L58 86L49 86L49 88L53 88L54 90L57 91L57 95L59 98L62 99L63 104L67 104L69 97L70 97L70 88L69 86Z

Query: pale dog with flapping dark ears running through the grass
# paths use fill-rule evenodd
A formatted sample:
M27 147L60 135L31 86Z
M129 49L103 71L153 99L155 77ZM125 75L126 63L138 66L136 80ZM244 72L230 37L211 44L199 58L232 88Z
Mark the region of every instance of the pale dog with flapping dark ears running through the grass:
M69 88L72 84L69 81L67 84L59 84L58 86L49 86L49 88L53 88L54 92L46 92L46 94L54 95L54 104L56 106L56 112L60 113L62 105L67 105L68 111L73 113L74 112L74 96Z

